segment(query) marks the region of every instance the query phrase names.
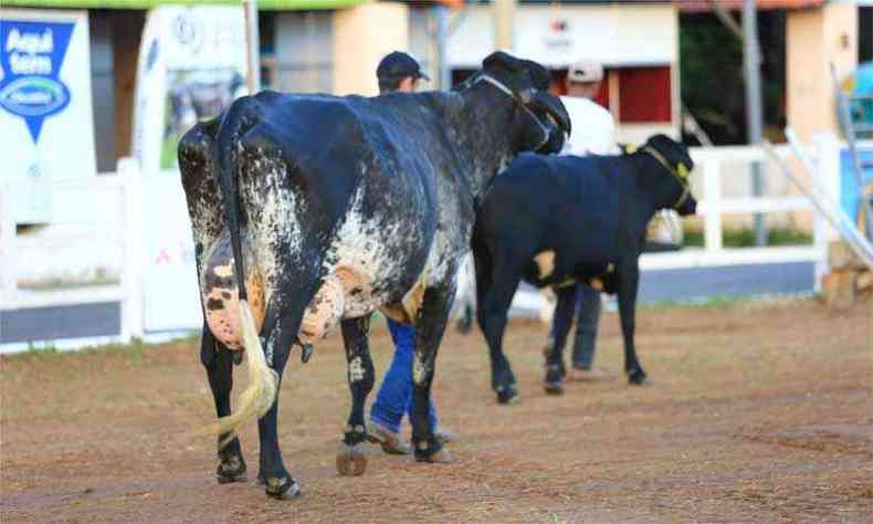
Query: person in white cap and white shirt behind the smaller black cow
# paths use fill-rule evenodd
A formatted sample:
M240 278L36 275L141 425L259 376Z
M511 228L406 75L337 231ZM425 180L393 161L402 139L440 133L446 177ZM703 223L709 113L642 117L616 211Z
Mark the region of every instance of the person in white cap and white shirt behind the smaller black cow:
M598 105L593 98L603 81L603 65L596 60L580 60L567 71L567 96L560 99L570 115L572 135L565 143L561 155L610 155L618 153L616 146L616 122L612 114ZM548 305L553 316L555 304ZM577 324L572 350L572 370L569 380L596 381L616 378L616 375L593 367L597 331L600 324L600 291L585 284L577 285ZM549 332L546 352L555 344L555 325ZM548 353L547 353L548 354Z

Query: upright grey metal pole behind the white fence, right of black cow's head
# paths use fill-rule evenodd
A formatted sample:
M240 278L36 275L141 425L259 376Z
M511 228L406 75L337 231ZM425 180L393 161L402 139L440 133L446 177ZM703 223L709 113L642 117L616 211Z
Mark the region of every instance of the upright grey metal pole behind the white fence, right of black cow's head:
M746 124L749 144L758 145L761 142L761 85L760 85L760 48L758 46L758 13L755 0L743 2L743 44L744 63L746 72ZM751 163L751 195L760 197L764 193L760 161ZM764 226L764 214L755 213L755 244L767 243L767 231Z

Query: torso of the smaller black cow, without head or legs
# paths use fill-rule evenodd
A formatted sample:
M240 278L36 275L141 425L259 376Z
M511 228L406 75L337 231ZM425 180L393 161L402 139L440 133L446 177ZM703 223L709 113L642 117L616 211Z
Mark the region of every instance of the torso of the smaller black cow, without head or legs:
M629 169L621 157L522 155L494 179L476 234L526 259L525 280L537 285L596 271L622 254ZM535 256L548 259L547 279Z

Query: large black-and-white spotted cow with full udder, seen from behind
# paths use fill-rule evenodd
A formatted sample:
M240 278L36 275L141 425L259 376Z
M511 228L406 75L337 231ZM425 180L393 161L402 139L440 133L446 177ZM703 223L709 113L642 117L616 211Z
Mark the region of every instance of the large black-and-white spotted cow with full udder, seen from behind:
M520 151L558 150L570 130L548 80L539 64L494 53L452 92L263 92L183 137L179 165L207 318L201 360L220 417L219 482L245 476L235 430L257 416L267 495L299 493L276 437L278 381L292 346L311 350L338 324L353 401L337 467L362 473L377 308L416 327L416 459L451 460L427 412L455 272L488 180ZM251 374L234 413L228 348L244 350Z

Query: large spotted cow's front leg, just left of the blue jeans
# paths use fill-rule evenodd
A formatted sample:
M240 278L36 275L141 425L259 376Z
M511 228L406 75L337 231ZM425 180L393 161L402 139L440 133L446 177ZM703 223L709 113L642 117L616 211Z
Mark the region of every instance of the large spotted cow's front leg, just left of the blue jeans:
M343 321L343 342L348 361L348 387L351 390L351 413L348 417L343 443L336 455L336 469L341 475L357 476L367 469L364 405L372 390L374 368L367 336L370 315Z

